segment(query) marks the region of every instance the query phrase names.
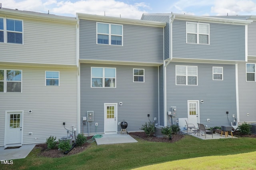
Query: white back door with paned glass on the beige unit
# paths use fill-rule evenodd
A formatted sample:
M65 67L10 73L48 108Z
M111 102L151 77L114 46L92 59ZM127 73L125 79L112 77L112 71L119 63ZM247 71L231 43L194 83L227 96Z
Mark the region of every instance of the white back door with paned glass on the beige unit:
M4 145L22 145L22 118L23 111L6 111Z

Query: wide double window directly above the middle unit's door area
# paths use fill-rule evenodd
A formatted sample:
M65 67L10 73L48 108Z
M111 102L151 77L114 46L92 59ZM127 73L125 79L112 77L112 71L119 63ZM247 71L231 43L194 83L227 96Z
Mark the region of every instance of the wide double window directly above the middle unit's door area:
M115 88L116 68L91 67L91 87Z

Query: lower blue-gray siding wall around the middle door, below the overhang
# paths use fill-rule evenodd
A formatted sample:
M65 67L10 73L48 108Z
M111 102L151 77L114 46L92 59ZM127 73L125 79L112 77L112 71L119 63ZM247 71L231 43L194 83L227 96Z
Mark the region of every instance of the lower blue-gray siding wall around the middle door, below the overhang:
M91 88L91 67L116 68L116 88ZM133 68L145 69L145 82L133 82ZM118 122L127 121L127 131L141 131L150 114L150 121L158 122L158 66L112 64L80 64L81 133L88 133L88 122L82 117L94 111L90 133L104 133L104 103L118 104ZM122 106L119 106L122 102ZM95 123L98 123L97 131ZM118 131L121 128L118 126Z

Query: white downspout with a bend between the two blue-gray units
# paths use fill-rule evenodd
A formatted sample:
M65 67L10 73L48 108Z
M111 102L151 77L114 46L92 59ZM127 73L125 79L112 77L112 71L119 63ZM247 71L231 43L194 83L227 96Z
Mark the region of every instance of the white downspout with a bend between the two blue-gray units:
M169 18L169 56L170 56L170 60L165 63L165 60L164 60L164 126L167 126L167 94L166 94L166 67L168 66L168 64L172 61L172 22L174 21L175 19L175 15L173 15L172 18Z

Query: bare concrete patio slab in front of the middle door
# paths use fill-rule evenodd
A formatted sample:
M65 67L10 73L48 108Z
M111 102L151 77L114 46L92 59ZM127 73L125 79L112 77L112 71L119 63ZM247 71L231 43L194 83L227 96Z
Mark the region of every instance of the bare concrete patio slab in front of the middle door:
M116 144L116 143L134 143L138 142L133 139L130 135L126 134L113 134L106 135L103 134L101 138L95 138L97 145L107 145L107 144Z

